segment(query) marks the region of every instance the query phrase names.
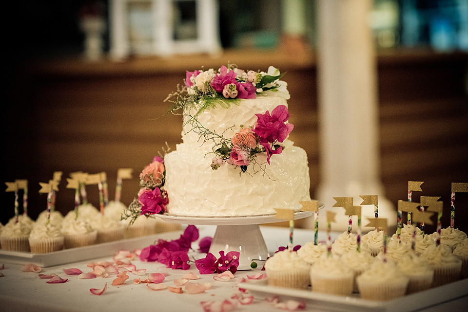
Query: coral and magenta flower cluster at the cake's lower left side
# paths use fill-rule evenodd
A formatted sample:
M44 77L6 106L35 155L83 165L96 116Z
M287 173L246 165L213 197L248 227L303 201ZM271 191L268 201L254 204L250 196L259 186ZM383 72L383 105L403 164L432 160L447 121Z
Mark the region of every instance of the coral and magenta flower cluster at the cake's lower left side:
M164 160L155 156L151 164L141 171L138 198L134 199L124 211L122 220L130 219L129 224L132 224L140 215L149 217L166 211L169 200L167 192L163 189L165 175Z

